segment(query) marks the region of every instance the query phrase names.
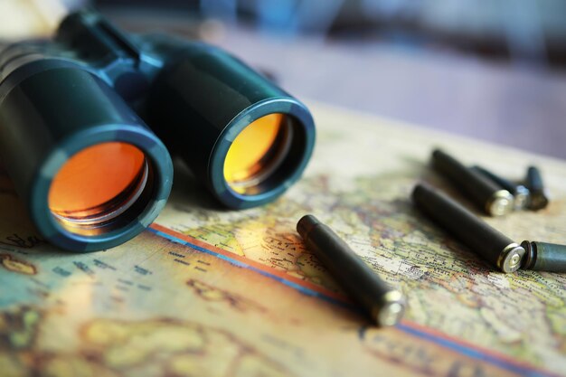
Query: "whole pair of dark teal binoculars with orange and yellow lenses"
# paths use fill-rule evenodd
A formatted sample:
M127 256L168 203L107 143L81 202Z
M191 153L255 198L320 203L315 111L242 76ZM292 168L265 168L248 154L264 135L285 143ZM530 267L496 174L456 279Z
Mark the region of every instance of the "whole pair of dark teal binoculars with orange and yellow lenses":
M221 203L269 203L312 154L307 107L229 53L70 14L0 53L0 156L33 223L71 251L112 248L164 208L179 156Z

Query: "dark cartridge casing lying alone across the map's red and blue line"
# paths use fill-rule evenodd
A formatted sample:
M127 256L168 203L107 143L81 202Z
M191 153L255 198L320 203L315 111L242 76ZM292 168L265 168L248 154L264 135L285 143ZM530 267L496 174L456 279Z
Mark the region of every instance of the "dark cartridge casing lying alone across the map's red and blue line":
M315 253L326 269L380 326L395 325L405 311L401 292L389 287L369 268L348 244L313 215L297 222L297 231L308 250Z

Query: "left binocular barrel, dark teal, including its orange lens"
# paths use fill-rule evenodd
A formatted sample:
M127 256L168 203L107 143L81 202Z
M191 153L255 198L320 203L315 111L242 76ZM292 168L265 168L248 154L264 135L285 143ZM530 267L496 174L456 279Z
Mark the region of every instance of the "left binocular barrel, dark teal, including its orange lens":
M43 63L0 84L5 168L47 240L73 251L117 246L165 206L171 157L105 82Z

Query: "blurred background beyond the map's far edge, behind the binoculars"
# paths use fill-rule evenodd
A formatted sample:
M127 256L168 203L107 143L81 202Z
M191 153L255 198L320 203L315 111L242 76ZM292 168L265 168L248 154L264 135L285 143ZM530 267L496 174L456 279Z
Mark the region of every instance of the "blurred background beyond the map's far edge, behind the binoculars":
M83 6L220 45L307 102L566 158L562 0L0 0L0 47Z

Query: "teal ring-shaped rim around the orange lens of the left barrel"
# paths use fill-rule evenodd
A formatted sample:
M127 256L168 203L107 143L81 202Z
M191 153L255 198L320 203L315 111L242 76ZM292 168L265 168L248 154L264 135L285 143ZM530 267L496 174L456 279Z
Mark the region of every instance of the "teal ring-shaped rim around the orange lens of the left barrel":
M56 220L49 209L48 196L52 179L71 156L89 146L106 142L128 143L145 154L146 161L153 171L153 192L144 209L124 226L97 235L71 232ZM65 138L46 156L39 172L34 175L29 203L33 221L39 231L62 249L84 252L113 248L144 231L165 207L173 183L173 163L163 143L146 127L107 124L89 127Z

